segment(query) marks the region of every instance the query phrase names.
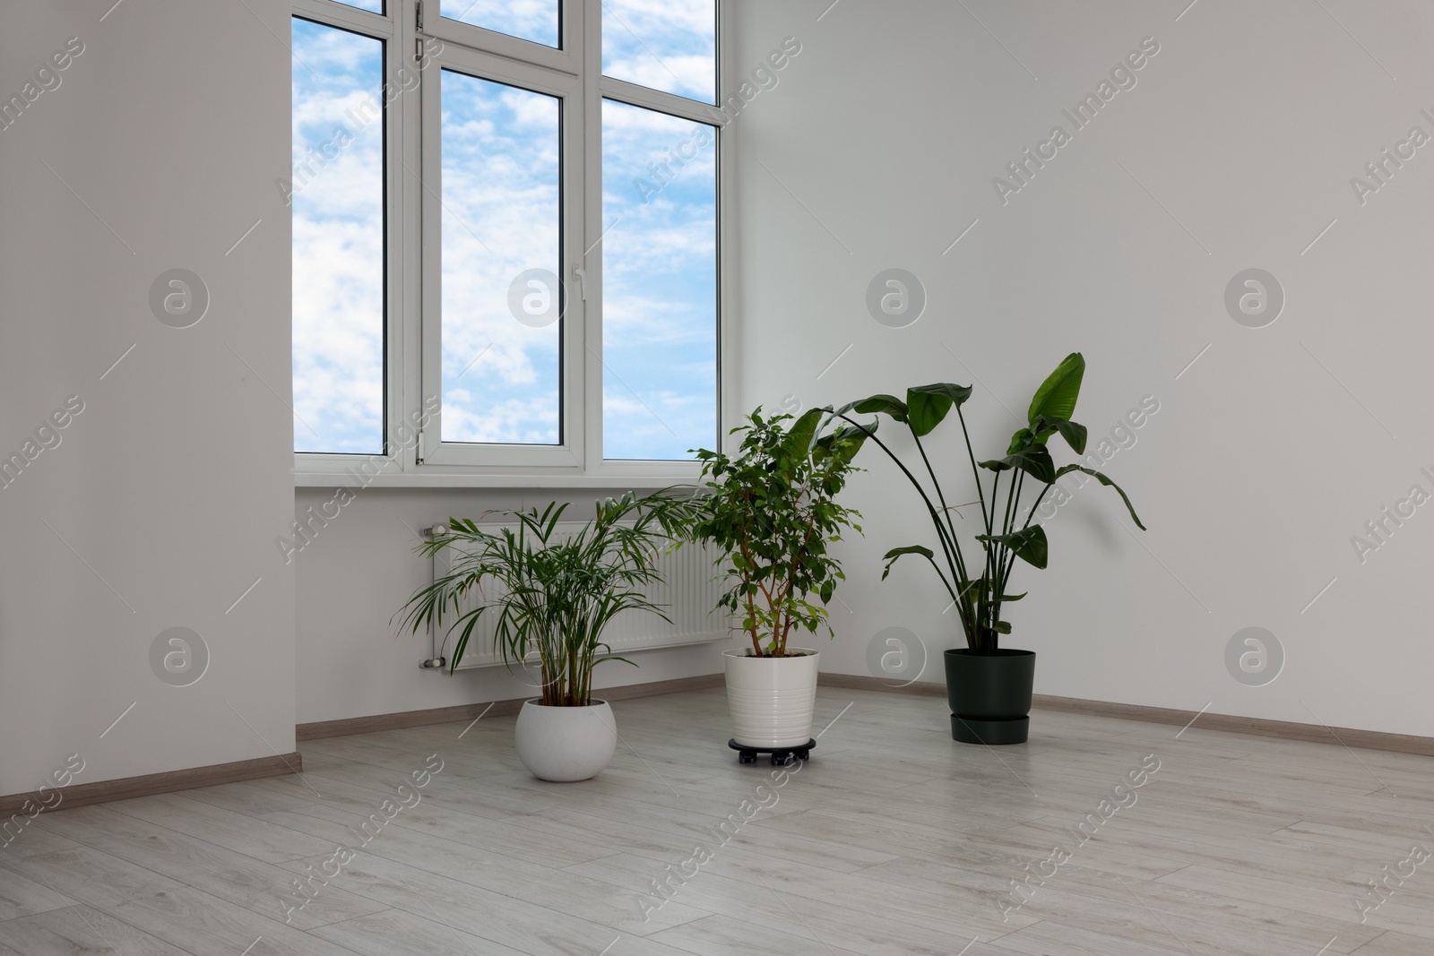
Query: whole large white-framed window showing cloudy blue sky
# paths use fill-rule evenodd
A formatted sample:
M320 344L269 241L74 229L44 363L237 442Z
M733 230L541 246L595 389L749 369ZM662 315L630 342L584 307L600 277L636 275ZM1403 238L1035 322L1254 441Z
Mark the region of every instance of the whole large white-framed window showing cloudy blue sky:
M439 484L695 474L717 1L293 3L298 480L354 454Z

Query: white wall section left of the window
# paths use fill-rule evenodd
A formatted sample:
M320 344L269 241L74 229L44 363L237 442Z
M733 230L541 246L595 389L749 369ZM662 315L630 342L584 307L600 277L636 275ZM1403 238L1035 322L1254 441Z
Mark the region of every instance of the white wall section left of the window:
M72 752L90 783L294 750L293 575L270 560L293 510L290 229L272 185L290 54L270 33L287 36L288 9L130 0L100 21L110 6L0 11L4 100L83 43L0 129L0 450L22 451L67 396L85 404L0 489L0 794ZM189 328L151 312L172 268L211 292ZM151 671L172 626L211 652L191 687Z

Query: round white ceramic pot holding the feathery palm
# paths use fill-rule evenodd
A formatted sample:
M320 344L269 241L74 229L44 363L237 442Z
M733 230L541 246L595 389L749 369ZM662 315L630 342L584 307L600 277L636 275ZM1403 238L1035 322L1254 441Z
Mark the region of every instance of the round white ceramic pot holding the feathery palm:
M618 745L618 725L607 701L588 707L549 707L523 701L513 730L518 760L533 777L555 783L588 780L608 765Z

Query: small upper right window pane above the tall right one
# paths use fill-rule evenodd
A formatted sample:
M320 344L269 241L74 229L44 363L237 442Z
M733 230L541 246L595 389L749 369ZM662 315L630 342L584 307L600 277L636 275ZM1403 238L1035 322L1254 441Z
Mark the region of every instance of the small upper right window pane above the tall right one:
M602 0L602 72L716 103L716 1Z

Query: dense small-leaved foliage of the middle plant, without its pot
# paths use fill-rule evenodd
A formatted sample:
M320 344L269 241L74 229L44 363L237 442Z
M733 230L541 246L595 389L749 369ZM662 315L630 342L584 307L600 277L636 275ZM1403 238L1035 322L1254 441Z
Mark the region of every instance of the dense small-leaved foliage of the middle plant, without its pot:
M736 457L695 453L707 494L690 535L723 552L717 563L731 588L718 606L741 619L759 655L784 656L793 628L832 634L825 605L845 575L827 546L842 540L843 529L862 530L860 515L835 499L860 470L852 459L868 433L852 424L819 436L827 416L830 408L812 408L794 420L764 419L757 408L731 430L743 436Z

